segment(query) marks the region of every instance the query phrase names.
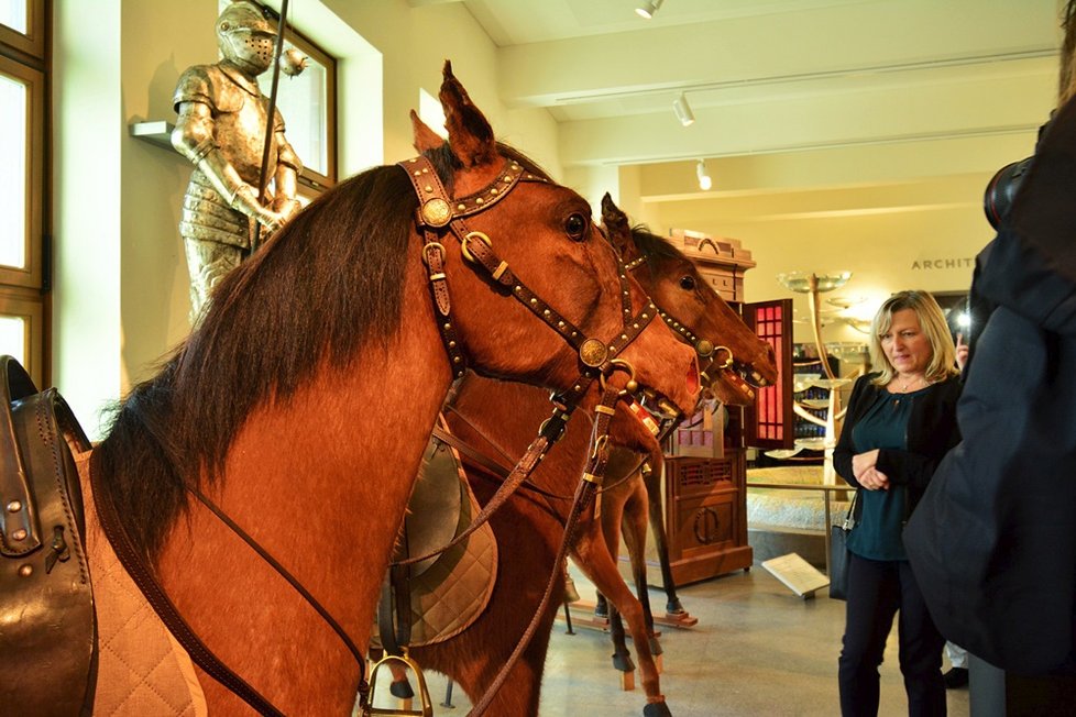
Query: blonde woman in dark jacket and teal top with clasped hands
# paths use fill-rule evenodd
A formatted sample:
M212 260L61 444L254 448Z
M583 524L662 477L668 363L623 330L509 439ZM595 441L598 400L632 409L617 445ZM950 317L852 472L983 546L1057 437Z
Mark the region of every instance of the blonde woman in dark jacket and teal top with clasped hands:
M847 611L837 662L841 713L878 714L878 668L899 610L909 714L944 715L945 639L901 540L935 466L959 441L955 348L934 297L901 291L887 299L871 323L870 356L881 371L856 380L833 451L837 474L860 489L848 537Z

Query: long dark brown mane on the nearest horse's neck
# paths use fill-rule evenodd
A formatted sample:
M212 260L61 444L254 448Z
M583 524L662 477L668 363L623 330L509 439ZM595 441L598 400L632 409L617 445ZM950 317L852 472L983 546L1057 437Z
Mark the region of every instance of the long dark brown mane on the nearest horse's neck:
M451 151L426 156L451 192ZM217 477L256 406L287 400L322 361L343 366L396 330L417 205L395 166L325 192L224 277L160 373L111 410L94 471L147 556L187 506L185 481Z

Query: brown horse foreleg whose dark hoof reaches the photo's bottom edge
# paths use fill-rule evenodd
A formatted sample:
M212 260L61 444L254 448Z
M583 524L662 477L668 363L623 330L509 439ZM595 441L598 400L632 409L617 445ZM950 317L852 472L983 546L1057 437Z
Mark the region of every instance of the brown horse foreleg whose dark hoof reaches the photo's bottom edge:
M603 504L603 512L606 506ZM661 694L661 680L658 675L657 665L654 663L654 654L650 652L650 641L647 639L646 622L643 618L643 606L625 585L612 554L605 547L603 536L600 534L600 530L594 523L586 526L585 532L580 536L575 544L575 558L577 564L586 573L594 586L608 598L611 607L615 607L619 611L632 631L636 658L641 672L643 690L646 692L647 698L643 714L645 717L671 716L666 705L665 695Z

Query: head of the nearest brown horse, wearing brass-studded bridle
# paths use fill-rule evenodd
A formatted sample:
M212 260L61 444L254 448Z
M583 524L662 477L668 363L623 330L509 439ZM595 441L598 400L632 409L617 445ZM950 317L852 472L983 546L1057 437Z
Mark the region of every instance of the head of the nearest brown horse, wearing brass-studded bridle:
M496 142L449 63L440 100L447 141L414 112L411 122L416 148L451 195L453 218L446 224L465 221L462 242L440 240L465 362L483 375L530 376L569 393L585 389L601 366L610 385L636 390L637 384L691 412L700 388L693 352L661 321L650 321L652 305L621 271L586 200ZM425 186L416 187L421 214ZM494 203L496 211L483 210ZM496 268L482 271L490 260L480 252L495 253ZM595 396L590 390L586 401Z

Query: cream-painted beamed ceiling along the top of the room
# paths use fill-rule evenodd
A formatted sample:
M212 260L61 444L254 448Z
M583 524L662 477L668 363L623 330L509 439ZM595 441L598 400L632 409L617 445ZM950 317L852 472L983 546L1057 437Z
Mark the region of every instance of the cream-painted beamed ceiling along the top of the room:
M1048 97L1003 98L1056 76L1058 0L666 0L649 21L637 0L454 1L498 46L502 99L561 123L567 166L1028 132Z

